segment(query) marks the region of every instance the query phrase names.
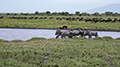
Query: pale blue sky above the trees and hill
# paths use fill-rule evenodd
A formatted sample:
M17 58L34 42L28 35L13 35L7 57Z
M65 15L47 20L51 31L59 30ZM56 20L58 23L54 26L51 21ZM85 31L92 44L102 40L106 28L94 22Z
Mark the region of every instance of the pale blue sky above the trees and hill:
M0 13L82 12L120 0L0 0Z

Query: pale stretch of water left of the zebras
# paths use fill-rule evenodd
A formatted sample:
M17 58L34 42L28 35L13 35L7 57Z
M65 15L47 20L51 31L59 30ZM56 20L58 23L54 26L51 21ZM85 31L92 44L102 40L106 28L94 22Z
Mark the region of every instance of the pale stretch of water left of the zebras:
M0 39L3 40L28 40L33 37L54 38L55 30L44 29L0 29Z

